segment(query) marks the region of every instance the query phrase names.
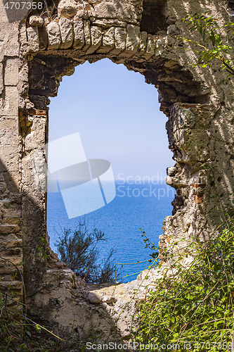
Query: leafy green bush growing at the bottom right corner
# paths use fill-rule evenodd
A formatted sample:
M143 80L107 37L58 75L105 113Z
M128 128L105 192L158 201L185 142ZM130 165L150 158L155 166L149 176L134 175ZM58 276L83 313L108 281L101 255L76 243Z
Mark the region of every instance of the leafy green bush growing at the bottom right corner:
M183 259L191 253L194 259L184 267ZM134 341L158 345L158 351L171 344L176 351L183 351L184 343L191 351L230 349L234 322L233 218L229 217L223 230L210 241L197 240L183 254L169 254L169 263L173 264L157 280L155 291L138 306Z

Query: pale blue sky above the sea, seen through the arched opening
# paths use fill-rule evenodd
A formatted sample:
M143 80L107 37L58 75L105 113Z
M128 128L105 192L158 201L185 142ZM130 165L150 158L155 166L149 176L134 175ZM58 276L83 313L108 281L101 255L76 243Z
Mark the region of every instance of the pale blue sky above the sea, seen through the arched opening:
M49 142L79 132L86 158L110 161L115 180L161 179L174 165L166 122L143 75L108 58L86 61L51 98Z

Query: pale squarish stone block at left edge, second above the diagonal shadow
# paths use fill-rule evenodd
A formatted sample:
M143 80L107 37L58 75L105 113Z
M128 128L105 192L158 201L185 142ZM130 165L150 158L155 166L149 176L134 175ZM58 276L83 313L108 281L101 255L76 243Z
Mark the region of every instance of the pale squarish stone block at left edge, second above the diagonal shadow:
M0 145L18 146L18 119L0 117Z

